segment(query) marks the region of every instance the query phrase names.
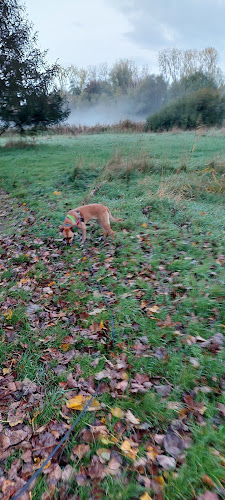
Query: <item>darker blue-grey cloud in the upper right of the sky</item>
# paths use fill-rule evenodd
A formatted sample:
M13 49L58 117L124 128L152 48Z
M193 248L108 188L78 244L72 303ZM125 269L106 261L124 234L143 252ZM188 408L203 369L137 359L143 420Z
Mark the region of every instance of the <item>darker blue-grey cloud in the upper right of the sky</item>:
M107 0L127 17L125 36L142 48L160 50L225 47L224 0Z

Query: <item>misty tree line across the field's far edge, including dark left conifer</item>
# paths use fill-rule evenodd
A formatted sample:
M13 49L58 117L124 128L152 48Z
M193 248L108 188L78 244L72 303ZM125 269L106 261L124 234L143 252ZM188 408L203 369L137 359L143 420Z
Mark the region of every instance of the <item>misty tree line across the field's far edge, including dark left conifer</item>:
M49 65L46 53L37 48L37 37L19 0L0 0L2 132L9 126L23 131L27 127L54 125L65 120L71 109L76 117L76 111L82 109L91 110L96 106L110 109L115 105L123 106L128 118L145 120L150 117L147 120L149 129L157 130L156 115L160 110L163 113L166 109L164 121L165 116L173 114L172 121L166 119L170 127L174 120L176 124L174 117L181 113L182 107L187 115L189 108L186 104L189 102L193 106L195 102L190 100L190 95L199 91L205 92L204 98L202 96L201 100L198 94L196 102L201 100L204 107L211 100L211 108L213 103L217 108L219 106L221 122L224 117L224 81L215 48L165 49L159 52L158 62L159 74L151 73L148 67L139 68L128 59L116 61L112 67L105 63L87 68ZM174 111L173 103L178 101L180 107L176 105ZM183 124L192 126L195 120L187 119L186 115ZM154 116L153 126L151 117ZM198 121L202 119L198 110L196 116ZM216 114L214 118L217 120ZM163 129L164 125L161 125Z

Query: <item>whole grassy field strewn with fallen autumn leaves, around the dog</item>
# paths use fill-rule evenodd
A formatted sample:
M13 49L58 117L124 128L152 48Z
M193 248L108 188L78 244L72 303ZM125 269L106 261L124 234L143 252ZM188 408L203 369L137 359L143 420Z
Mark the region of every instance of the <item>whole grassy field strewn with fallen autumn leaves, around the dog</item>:
M0 498L224 498L223 131L1 141Z

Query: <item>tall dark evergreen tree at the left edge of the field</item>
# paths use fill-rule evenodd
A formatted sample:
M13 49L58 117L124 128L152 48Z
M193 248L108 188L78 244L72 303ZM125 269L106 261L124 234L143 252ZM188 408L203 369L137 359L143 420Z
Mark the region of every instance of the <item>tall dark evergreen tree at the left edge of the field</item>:
M58 68L49 66L36 47L36 36L18 0L0 0L0 122L46 126L65 119L69 110L54 86Z

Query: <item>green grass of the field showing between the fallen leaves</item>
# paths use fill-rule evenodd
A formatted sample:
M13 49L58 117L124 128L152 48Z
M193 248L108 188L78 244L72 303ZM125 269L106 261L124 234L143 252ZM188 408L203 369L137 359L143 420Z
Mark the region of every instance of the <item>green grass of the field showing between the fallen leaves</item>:
M107 349L108 310L85 316L87 310L104 306L101 295L96 293L99 278L104 290L113 294L108 298L115 319L115 356L127 355L129 379L141 373L153 381L146 394L131 394L128 389L125 398L114 399L105 393L99 399L107 407L130 409L149 425L140 444L140 454L144 455L151 435L167 432L171 420L179 418L179 410L168 409L168 402L185 408L184 395L195 391L196 401L204 402L206 407L204 425L193 415L187 418L192 444L176 474L164 474L164 495L168 500L191 500L194 494L197 497L207 489L201 480L203 474L211 477L214 490L219 491L225 480L224 467L212 450L223 454L224 434L217 420L217 404L224 399L221 387L225 355L224 350L218 353L203 349L193 339L198 335L208 339L224 332L224 274L220 260L224 254L225 222L223 133L212 130L199 137L193 132L40 136L34 147L24 149L5 148L6 142L1 138L0 182L12 205L9 216L1 223L7 237L15 233L15 241L10 240L6 258L2 239L1 254L8 265L2 269L0 299L3 306L10 304L12 315L7 319L3 307L0 352L4 366L16 364L18 380L27 377L42 386L45 402L35 425L48 425L53 418L61 420L66 392L59 384L74 373L77 363L86 380L104 368L106 359L111 359ZM196 148L191 153L193 144ZM210 162L214 170L205 172ZM93 188L98 188L94 195ZM91 224L84 251L79 236L72 247L62 246L57 226L66 211L84 199L106 204L113 215L123 219L112 224L113 245L104 246L99 239L101 230ZM29 216L35 217L35 222L24 224ZM35 237L42 238L43 243L35 241ZM56 252L60 252L57 258L53 256ZM33 253L38 260L32 260ZM87 263L96 266L95 278L90 276ZM17 283L24 277L31 280L28 289L26 283L18 288ZM53 281L53 295L45 295L43 287ZM61 310L68 318L74 314L75 325L82 329L100 320L106 326L102 342L77 332L69 350L76 349L79 354L59 374L54 369L60 361L51 357L48 360L48 349L63 352L64 338L71 335L75 325L60 318L54 326L53 318L46 320L49 326L40 323L36 330L32 329L26 307L35 299L35 293L44 313L50 309ZM143 301L146 307L157 305L158 313L148 315ZM168 317L171 324L163 326ZM10 341L7 326L15 332ZM134 346L143 336L148 339L148 347L146 353L138 354ZM155 355L157 352L164 354ZM100 361L94 367L96 355ZM197 368L191 365L191 357L198 360ZM163 399L155 393L154 384L165 383L171 384L172 391ZM209 386L211 392L196 390L201 386ZM78 442L79 431L93 419L88 414L79 424L66 448L68 456L71 446ZM114 420L107 420L107 425L113 432ZM91 456L96 446L101 444L92 445ZM9 468L11 461L7 460ZM159 474L162 472L159 469ZM149 472L147 475L151 477ZM91 494L90 485L81 487L73 481L70 488L68 494L75 492L80 498ZM107 476L101 488L105 492L102 498L117 496L124 500L139 498L145 491L129 460L123 476ZM39 479L32 494L39 500L46 490L45 478ZM154 498L153 491L149 494Z

